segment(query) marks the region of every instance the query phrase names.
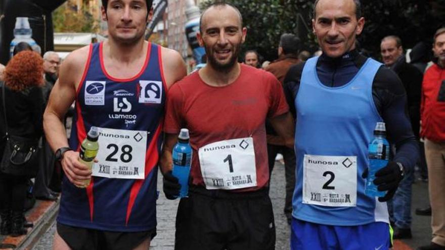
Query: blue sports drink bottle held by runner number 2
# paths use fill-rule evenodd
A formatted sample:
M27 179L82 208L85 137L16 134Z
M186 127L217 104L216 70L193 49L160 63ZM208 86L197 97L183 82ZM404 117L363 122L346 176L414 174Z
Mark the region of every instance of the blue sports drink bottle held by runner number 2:
M384 122L378 122L374 130L374 138L369 143L369 169L366 178L365 193L371 197L383 197L386 191L377 190L374 184L375 173L384 168L389 161L389 143L386 140L386 129Z

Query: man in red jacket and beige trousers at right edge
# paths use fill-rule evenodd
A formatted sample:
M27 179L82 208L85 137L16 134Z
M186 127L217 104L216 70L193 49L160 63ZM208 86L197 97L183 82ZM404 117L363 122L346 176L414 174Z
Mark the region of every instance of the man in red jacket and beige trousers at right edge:
M445 249L445 28L434 34L434 64L422 83L422 130L428 167L432 239L420 250Z

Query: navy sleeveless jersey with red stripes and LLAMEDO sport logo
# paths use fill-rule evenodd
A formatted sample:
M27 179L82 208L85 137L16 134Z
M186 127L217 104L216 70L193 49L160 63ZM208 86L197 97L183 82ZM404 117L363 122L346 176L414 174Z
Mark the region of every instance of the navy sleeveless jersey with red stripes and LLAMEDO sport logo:
M90 46L69 145L78 150L91 126L147 131L145 179L92 177L90 186L77 188L65 177L57 220L107 231L151 230L156 227L157 164L166 98L161 47L149 43L143 69L130 79L116 79L106 72L102 47L103 43Z

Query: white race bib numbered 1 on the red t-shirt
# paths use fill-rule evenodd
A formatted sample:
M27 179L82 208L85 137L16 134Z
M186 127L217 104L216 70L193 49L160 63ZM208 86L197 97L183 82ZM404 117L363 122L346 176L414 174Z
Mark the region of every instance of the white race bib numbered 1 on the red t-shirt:
M207 189L238 189L256 186L253 138L222 140L198 151Z

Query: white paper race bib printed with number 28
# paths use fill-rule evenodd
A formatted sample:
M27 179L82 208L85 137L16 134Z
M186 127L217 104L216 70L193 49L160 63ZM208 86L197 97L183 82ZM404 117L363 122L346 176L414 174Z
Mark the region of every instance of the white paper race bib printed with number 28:
M99 128L93 176L144 179L147 131Z

